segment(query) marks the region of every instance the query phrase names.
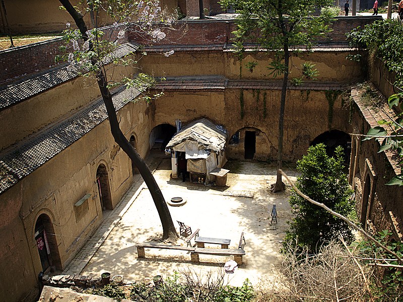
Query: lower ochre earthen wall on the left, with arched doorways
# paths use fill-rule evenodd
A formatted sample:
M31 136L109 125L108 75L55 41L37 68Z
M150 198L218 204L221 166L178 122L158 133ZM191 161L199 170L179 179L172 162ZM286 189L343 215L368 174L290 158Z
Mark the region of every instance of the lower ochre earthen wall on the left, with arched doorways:
M57 87L61 92L63 88L65 90L64 103L54 105L60 105L57 110L66 110L63 106L68 100L85 106L89 95L81 84L81 81L71 81ZM73 91L83 94L74 94L71 86ZM91 89L87 91L90 92ZM36 98L46 100L48 96L43 93ZM43 110L48 109L46 103L35 102ZM27 103L30 106L30 102ZM149 150L147 142L152 129L148 107L143 102L130 102L118 112L120 126L127 139L135 135L136 140L142 142L137 150L143 157ZM3 114L9 113L0 112L0 116L3 117ZM24 124L25 118L25 115L20 116L14 122ZM85 243L85 240L77 238L88 238L95 231L103 217L96 184L100 164L106 167L108 173L114 207L131 185L132 171L128 157L114 143L108 120L0 195L0 236L4 243L0 247L0 268L13 271L13 274L7 274L7 280L5 275L0 278L0 301L17 301L23 297L31 300L30 297L37 294L36 276L42 271L42 266L34 233L39 215L46 214L52 223L53 230L46 231L49 233L51 259L57 269L63 269ZM88 211L77 220L74 204L86 194L91 194ZM57 236L52 236L52 232Z

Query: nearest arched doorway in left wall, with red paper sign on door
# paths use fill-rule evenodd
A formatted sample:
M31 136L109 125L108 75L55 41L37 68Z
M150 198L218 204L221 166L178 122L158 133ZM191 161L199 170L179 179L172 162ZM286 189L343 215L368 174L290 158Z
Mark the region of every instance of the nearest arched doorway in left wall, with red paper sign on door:
M61 270L61 261L54 236L53 224L48 215L41 214L36 219L34 237L41 260L42 271L50 270L51 266L55 266Z

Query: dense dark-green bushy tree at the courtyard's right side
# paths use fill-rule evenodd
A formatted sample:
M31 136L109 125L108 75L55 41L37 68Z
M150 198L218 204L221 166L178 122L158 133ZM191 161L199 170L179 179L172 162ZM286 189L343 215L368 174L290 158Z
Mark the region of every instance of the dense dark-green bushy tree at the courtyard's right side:
M344 169L343 147L335 149L335 155L326 155L325 145L320 143L308 148L308 154L297 162L301 173L296 187L313 200L323 203L333 211L344 216L354 215L354 202L350 199L350 189ZM301 248L311 252L331 241L339 234L351 243L353 233L350 226L342 219L333 216L295 191L291 194L290 204L295 215L287 232L286 245L297 240Z

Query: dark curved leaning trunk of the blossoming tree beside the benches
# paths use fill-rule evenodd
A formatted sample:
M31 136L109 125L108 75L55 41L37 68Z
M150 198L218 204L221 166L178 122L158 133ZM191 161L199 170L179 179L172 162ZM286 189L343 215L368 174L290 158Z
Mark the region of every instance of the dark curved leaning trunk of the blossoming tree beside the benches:
M75 10L71 5L69 0L59 0L64 8L69 12L76 22L84 40L88 40L87 36L87 26L83 20L83 16ZM90 49L92 49L92 43L90 43ZM106 111L108 113L109 125L111 133L115 142L122 148L123 152L128 155L130 160L135 163L136 167L139 169L141 176L143 177L147 187L150 190L151 196L153 197L155 206L157 208L158 214L161 219L162 229L163 229L163 239L176 240L178 235L175 230L175 226L172 221L171 214L169 212L168 206L165 202L164 196L154 179L153 174L148 168L145 161L140 157L135 148L131 146L129 141L126 139L119 127L119 122L116 116L116 110L112 102L112 95L107 88L107 79L105 73L100 69L96 74L99 90L104 101Z

